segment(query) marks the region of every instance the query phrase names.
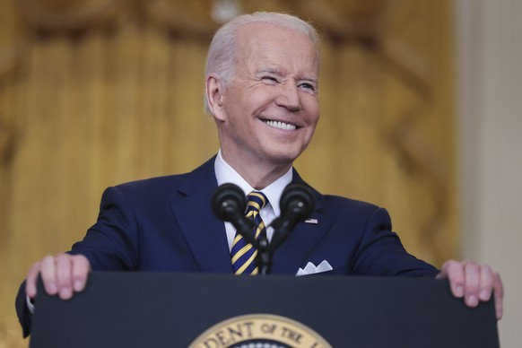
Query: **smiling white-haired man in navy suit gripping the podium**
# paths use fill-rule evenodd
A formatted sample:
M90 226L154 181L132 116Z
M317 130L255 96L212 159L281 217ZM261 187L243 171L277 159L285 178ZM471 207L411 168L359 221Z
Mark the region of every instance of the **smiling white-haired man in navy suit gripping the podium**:
M236 231L213 215L213 192L226 182L246 193L260 191L265 225L280 214L283 188L304 184L292 163L318 123L318 68L317 33L296 17L254 13L218 30L207 60L205 102L220 152L191 173L109 187L83 241L30 268L17 299L24 335L38 274L49 294L67 300L83 291L91 270L233 272ZM384 209L313 192L317 223L300 222L275 250L274 274L297 274L325 261L330 274L448 277L451 291L470 307L494 293L501 317L502 283L489 266L448 261L439 272L406 253ZM271 239L273 231L265 232Z

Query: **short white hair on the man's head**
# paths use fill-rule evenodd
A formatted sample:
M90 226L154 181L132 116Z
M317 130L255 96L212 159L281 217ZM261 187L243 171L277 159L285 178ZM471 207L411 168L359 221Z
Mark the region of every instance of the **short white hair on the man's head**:
M231 83L235 74L235 65L238 62L236 47L239 27L250 23L268 23L304 33L314 44L316 55L319 59L318 31L308 22L286 13L257 12L241 14L232 19L231 22L224 24L214 34L206 58L205 75L216 74L225 86ZM207 112L209 111L206 93L204 95L204 109Z

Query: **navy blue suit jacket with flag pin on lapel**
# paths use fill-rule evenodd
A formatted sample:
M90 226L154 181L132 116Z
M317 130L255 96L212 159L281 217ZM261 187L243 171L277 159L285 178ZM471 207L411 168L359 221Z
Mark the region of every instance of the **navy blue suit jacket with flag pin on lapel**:
M92 270L231 273L224 223L214 216L214 158L181 175L109 187L100 215L72 254L83 254ZM293 180L303 183L294 170ZM312 188L316 223L300 222L274 251L272 272L296 274L309 262L326 260L328 274L434 276L437 269L408 254L386 210ZM278 203L272 203L278 204ZM22 301L19 316L29 332Z

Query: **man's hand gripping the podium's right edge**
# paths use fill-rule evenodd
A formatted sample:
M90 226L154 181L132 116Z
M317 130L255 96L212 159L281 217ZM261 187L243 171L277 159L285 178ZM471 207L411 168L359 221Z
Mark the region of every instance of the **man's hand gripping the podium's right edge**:
M437 278L448 278L453 295L464 298L469 307L476 307L480 301L490 300L493 294L497 319L502 318L504 286L500 275L489 265L449 260L442 265Z

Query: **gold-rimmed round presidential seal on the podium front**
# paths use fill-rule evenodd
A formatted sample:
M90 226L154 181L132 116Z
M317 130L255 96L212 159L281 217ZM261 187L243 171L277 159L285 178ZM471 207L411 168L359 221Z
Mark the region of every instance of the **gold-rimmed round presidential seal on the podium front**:
M218 323L189 348L331 348L308 326L271 314L249 314Z

